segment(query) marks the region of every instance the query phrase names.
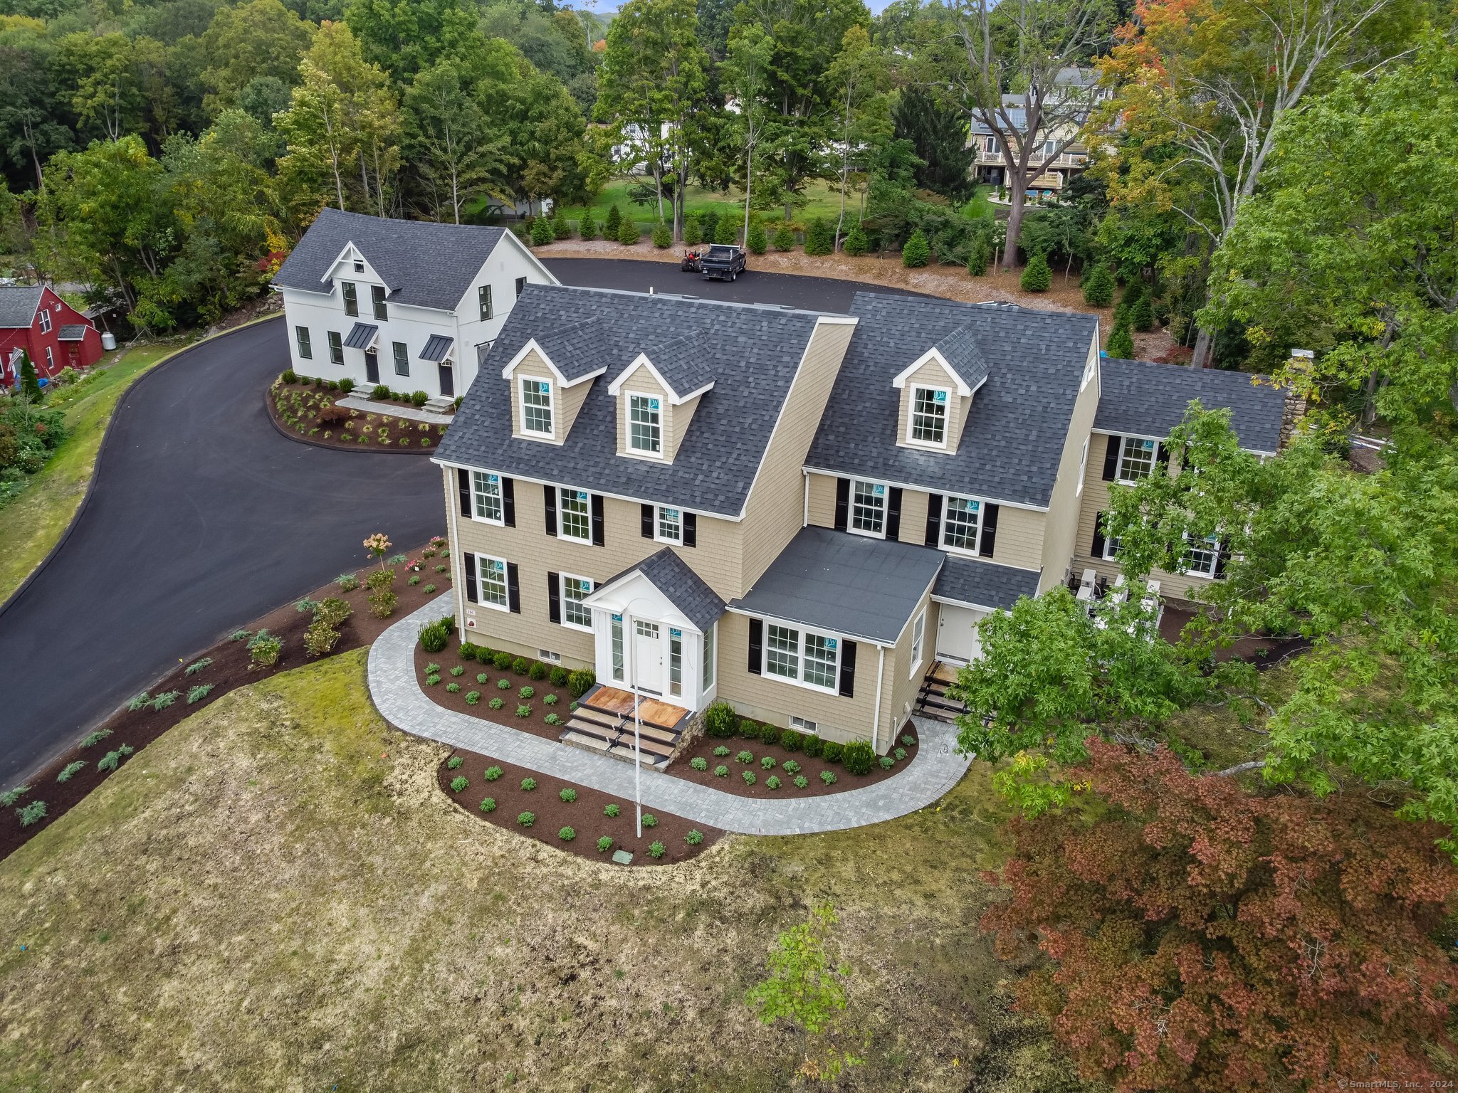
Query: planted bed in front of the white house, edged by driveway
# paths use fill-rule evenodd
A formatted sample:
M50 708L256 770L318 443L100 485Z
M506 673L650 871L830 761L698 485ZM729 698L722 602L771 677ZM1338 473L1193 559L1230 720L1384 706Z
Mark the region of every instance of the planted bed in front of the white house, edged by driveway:
M378 452L433 452L446 426L414 421L389 412L392 405L423 407L426 392L401 395L381 385L369 395L379 412L337 405L354 391L351 379L309 379L284 372L268 388L264 399L268 415L284 433L330 447Z

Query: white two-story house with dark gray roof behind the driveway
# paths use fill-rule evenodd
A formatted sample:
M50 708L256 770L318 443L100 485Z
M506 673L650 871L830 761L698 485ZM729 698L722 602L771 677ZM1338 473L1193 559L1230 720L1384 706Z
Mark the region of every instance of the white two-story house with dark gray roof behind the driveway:
M503 227L325 208L278 268L290 367L464 395L528 284L557 284Z

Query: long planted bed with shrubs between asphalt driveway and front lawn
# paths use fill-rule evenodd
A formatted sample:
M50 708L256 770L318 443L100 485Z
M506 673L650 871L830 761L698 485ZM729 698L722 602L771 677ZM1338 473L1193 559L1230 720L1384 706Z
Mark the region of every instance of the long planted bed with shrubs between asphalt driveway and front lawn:
M233 688L367 646L395 618L449 589L449 568L443 574L433 571L446 557L445 545L437 538L411 554L389 554L392 544L383 535L370 536L366 548L379 558L376 564L341 573L297 603L233 631L134 695L23 787L0 787L0 858L66 813L120 765L136 762L140 749L184 717Z

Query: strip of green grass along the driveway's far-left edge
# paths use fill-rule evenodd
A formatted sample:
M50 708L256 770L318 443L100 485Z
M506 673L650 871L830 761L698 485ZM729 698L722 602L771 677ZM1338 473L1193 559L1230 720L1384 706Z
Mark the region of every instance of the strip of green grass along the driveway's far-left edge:
M85 388L61 389L51 405L64 408L70 436L0 519L0 602L15 592L57 544L76 514L106 423L127 388L185 342L137 345L108 353L98 377Z

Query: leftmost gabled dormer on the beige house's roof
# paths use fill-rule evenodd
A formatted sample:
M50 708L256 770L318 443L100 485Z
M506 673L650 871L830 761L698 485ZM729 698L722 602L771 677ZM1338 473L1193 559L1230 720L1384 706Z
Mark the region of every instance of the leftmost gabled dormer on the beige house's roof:
M567 439L592 380L608 370L599 363L593 326L585 319L528 338L502 369L510 385L513 437L548 444Z

